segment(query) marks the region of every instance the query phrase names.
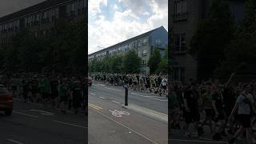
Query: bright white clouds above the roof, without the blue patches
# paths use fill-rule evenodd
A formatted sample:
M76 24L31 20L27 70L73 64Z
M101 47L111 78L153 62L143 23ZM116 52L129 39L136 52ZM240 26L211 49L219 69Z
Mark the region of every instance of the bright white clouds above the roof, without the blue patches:
M167 0L161 1L167 2ZM122 2L127 2L127 0L122 0ZM113 46L118 42L133 38L159 26L164 26L167 30L167 6L159 4L158 0L151 0L150 4L148 0L140 0L140 2L147 3L151 7L151 11L144 10L142 13L137 14L134 13L132 7L128 7L122 12L115 10L113 18L110 18L111 20L106 19L104 15L100 15L95 21L89 22L89 54L102 50L102 47ZM163 10L163 7L166 10ZM150 13L153 14L150 15ZM146 21L141 21L142 15L144 17L146 15Z

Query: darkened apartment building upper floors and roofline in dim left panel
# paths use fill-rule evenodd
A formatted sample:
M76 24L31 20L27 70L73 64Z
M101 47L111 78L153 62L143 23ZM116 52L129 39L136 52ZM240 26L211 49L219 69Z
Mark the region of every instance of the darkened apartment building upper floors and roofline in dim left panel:
M14 34L29 30L34 38L46 38L58 20L86 18L86 0L46 0L0 18L0 47L8 46Z

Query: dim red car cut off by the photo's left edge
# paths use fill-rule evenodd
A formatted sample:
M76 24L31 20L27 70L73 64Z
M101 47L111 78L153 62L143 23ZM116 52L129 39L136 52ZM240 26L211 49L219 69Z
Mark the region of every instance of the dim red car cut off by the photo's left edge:
M6 89L6 86L0 85L0 111L10 115L13 112L13 102L13 94Z

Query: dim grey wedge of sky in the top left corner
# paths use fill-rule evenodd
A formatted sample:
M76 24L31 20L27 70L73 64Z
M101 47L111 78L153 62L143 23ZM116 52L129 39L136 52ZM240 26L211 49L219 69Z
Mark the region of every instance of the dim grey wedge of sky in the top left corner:
M0 18L46 0L0 0Z

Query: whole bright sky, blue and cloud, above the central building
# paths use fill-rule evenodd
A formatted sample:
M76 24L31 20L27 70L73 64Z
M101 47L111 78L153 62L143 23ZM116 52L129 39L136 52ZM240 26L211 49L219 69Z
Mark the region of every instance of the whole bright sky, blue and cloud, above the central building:
M88 53L164 26L167 0L89 0Z

